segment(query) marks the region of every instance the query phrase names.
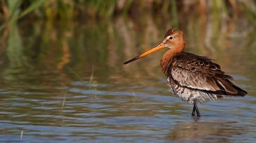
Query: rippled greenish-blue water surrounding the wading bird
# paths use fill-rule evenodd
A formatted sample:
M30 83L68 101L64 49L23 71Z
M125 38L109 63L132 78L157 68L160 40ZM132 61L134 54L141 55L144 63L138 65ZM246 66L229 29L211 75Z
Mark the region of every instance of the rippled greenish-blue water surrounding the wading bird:
M169 19L10 25L0 41L0 141L254 142L255 27L221 24L180 21L186 51L216 58L248 95L201 104L201 118L170 93L165 50L123 65L162 41Z

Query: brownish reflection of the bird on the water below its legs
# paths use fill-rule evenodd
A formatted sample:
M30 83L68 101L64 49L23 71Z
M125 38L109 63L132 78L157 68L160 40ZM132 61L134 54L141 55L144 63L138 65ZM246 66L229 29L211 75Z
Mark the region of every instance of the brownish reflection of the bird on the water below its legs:
M237 122L180 122L166 139L171 141L230 142L227 137L245 134ZM216 138L218 136L218 138Z

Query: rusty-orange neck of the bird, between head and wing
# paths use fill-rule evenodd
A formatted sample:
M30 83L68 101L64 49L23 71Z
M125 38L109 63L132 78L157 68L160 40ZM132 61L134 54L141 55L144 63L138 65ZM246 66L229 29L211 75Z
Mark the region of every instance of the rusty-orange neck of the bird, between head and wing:
M168 65L169 65L169 62L171 62L171 59L174 58L174 56L178 55L179 53L182 53L184 47L185 47L185 44L180 47L170 48L167 52L165 52L161 60L162 71L163 73L165 73L165 75L167 74Z

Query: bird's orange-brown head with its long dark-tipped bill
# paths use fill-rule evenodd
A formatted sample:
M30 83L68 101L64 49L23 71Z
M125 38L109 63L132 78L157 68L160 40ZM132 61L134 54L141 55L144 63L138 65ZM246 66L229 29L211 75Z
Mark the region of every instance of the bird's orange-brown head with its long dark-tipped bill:
M185 46L185 39L183 38L183 32L176 29L169 29L165 36L163 37L163 41L158 44L156 47L144 52L141 55L136 56L135 58L130 59L129 61L124 62L124 64L128 64L129 62L135 61L137 59L143 58L151 53L154 53L162 48L169 48L174 50L183 50Z

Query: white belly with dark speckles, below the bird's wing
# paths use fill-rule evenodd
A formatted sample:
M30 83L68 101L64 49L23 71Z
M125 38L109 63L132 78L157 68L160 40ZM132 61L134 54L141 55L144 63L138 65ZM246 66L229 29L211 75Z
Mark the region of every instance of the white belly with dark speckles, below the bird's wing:
M167 84L175 96L179 97L183 101L190 102L191 104L193 104L193 102L202 103L207 101L214 101L222 97L221 95L215 95L213 93L180 87L171 78L167 79Z

